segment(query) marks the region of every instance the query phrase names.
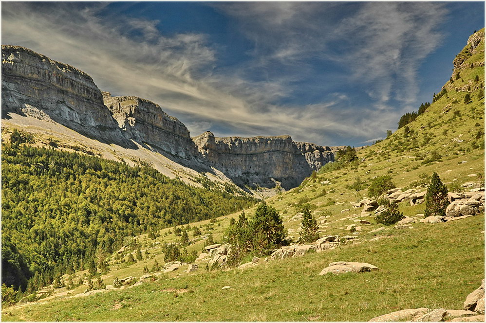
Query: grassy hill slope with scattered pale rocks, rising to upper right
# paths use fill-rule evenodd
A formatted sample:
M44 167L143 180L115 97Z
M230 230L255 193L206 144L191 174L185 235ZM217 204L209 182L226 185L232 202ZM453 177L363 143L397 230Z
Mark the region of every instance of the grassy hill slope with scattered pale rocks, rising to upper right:
M109 257L106 287L90 291L86 270L65 275L80 284L46 286L4 308L2 320L484 322L484 30L471 39L454 61L461 68L448 82L454 90L442 91L386 140L358 150L356 161L324 167L266 199L283 219L289 246L229 267L232 246L224 236L237 213L180 226L188 233L181 252L194 259L165 261L166 244L178 246L182 236L163 229ZM221 145L218 154L231 142L205 136L197 141ZM449 206L445 215L425 217L434 172L448 188ZM374 197L370 184L381 176L395 187ZM376 220L385 201L403 214L396 224ZM306 244L299 243L304 204L319 234ZM255 208L245 214L251 218ZM142 259L127 262L138 250Z

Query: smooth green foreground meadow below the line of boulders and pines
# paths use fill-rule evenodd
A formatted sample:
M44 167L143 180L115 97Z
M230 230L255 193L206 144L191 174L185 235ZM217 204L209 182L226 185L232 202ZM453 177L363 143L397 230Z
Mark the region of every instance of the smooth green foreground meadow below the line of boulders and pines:
M199 271L129 290L9 308L3 321L368 321L416 307L460 309L484 278L484 216L256 268ZM418 234L419 233L419 234ZM330 262L379 270L319 276ZM224 286L230 289L222 290ZM172 289L187 291L173 292ZM167 290L170 291L167 291ZM244 295L244 297L242 297ZM115 309L116 308L116 309ZM318 318L318 319L316 319Z

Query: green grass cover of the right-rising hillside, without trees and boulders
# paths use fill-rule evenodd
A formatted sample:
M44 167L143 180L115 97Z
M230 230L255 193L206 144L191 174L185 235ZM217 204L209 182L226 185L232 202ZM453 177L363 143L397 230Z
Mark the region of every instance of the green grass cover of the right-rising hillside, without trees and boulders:
M484 278L484 215L372 232L383 225L376 223L373 214L361 215L351 203L367 197L367 184L380 175L390 175L404 190L426 190L432 172L452 192L468 191L461 186L467 181L484 186L484 36L475 53L461 52L465 59L453 74L459 72L460 77L449 81L447 91L441 90L415 121L357 151L357 161L342 169L325 167L299 187L267 199L282 215L294 241L299 238L300 220L292 218L302 203L311 204L316 217L325 217L320 236L351 234L355 239L298 258L261 259L255 268L206 270L200 262L199 270L186 273L186 264L141 286L80 298L67 297L84 292L86 286L61 288L46 304L3 309L2 320L367 321L404 308L461 309L467 294ZM415 216L424 213L425 205L411 206L407 201L399 209ZM251 217L254 209L245 213ZM209 234L221 241L230 218L238 215L190 224L187 252L200 253ZM355 233L347 229L360 220L370 224L359 224L362 230ZM200 228L201 235L194 234L194 227ZM370 241L374 238L379 240ZM149 259L127 264L113 253L104 282L112 285L116 277L141 277L145 266L151 267L155 260L164 263L163 243L179 240L173 228L159 231L155 238L138 236L137 245L142 252L149 251ZM127 248L121 255L126 257L135 249ZM251 255L245 261L250 259ZM367 262L379 270L319 276L333 261ZM76 278L85 273L77 272Z

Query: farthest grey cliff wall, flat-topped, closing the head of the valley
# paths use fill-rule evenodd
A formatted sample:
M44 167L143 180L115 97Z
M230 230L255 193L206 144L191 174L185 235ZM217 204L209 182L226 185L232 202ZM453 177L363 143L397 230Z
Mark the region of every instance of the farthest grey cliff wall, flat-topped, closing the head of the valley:
M334 161L330 147L295 143L290 136L217 138L206 131L193 140L212 166L239 185L290 189Z

